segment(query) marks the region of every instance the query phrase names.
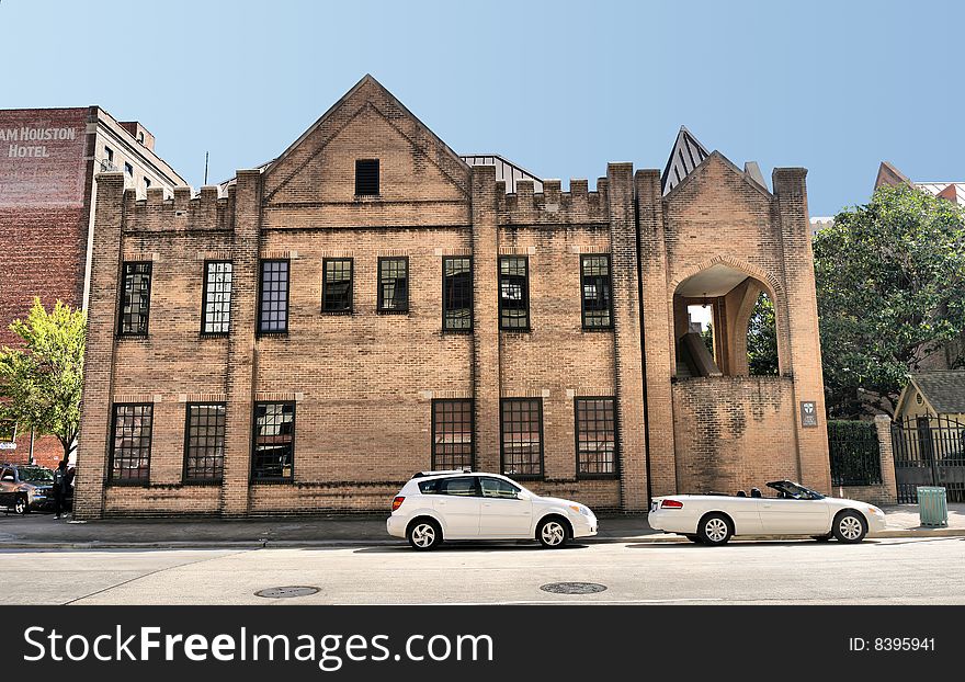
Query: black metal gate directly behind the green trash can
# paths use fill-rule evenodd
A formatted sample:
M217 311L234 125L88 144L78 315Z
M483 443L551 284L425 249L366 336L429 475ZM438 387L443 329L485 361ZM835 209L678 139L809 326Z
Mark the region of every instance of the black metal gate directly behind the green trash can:
M917 502L918 486L941 486L965 502L965 424L947 417L908 417L892 425L899 502Z

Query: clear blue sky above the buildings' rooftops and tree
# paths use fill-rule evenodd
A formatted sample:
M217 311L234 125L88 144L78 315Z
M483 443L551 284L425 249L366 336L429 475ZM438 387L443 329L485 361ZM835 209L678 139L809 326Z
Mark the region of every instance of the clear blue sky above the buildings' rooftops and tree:
M543 178L662 170L680 125L809 169L813 216L881 160L965 180L965 2L0 0L0 107L138 120L200 186L274 158L371 72L459 154Z

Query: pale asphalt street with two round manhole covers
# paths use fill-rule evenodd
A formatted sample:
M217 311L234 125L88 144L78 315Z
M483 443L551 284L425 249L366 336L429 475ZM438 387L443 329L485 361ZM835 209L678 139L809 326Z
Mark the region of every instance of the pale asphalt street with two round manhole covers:
M965 604L965 538L0 550L8 604ZM557 594L554 582L605 590ZM310 587L297 598L259 590Z

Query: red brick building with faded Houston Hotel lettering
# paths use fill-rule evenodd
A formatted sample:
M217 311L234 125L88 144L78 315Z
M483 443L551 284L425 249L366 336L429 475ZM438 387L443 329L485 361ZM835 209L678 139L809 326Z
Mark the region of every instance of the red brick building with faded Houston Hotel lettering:
M18 342L10 323L26 317L35 296L47 307L84 304L96 173L121 170L141 193L186 186L154 141L139 123L118 123L98 106L0 110L0 346ZM9 445L12 429L0 431ZM16 450L4 446L0 461L26 462L30 440L20 430ZM47 466L64 452L55 439L33 450Z

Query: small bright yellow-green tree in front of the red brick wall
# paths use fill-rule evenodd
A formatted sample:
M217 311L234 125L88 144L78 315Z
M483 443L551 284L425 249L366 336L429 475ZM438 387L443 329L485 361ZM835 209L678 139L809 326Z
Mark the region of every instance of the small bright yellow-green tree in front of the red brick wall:
M39 298L10 330L22 348L0 350L0 420L39 435L53 435L68 458L80 428L87 315L57 302L47 311Z

